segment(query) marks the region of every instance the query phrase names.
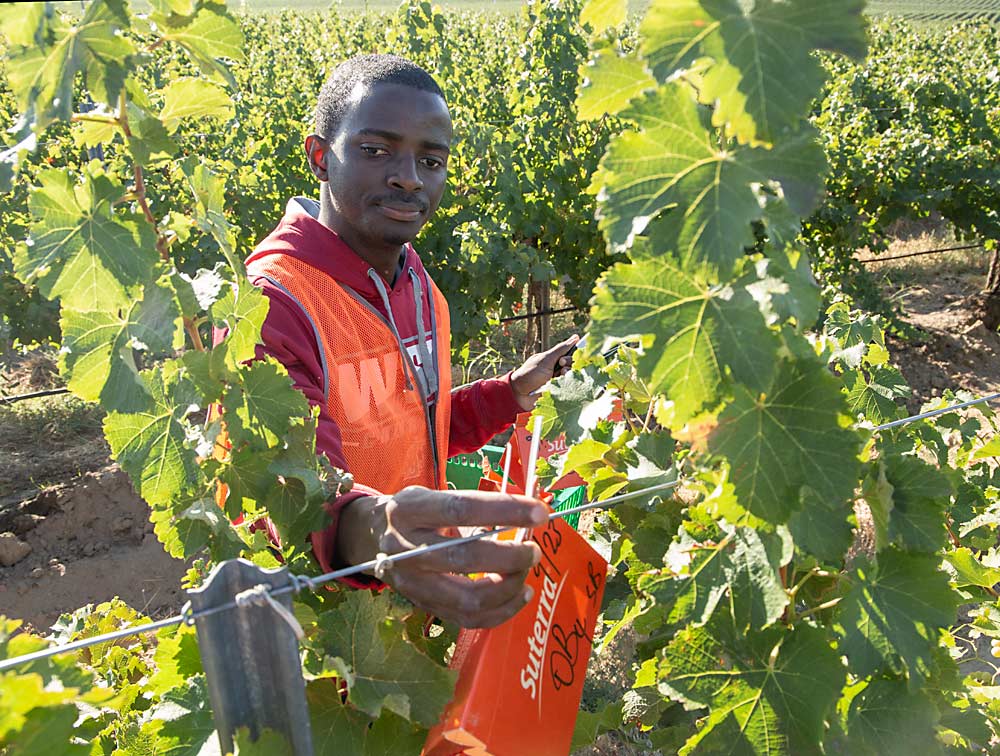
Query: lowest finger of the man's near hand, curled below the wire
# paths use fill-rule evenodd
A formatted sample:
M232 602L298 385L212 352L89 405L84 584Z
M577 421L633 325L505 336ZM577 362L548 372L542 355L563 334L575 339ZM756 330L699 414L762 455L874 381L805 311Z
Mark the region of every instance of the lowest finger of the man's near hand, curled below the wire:
M463 627L492 627L513 616L532 595L524 573L470 580L458 575L410 572L395 576L396 590L425 611Z

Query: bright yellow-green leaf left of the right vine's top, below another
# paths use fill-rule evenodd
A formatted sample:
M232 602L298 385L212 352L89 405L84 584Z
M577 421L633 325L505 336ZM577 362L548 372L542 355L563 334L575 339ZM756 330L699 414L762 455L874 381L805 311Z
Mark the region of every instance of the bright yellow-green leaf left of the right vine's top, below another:
M580 86L576 93L577 117L595 120L615 115L656 80L633 54L604 43L594 49L589 61L580 66Z

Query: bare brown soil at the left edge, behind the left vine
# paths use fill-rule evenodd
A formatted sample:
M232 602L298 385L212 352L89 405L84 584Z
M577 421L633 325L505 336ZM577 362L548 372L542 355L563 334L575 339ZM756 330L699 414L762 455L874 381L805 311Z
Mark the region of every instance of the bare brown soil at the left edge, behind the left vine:
M0 361L0 395L58 385L51 353ZM113 596L153 617L183 603L185 565L153 535L149 507L108 457L101 420L69 396L0 405L0 533L31 548L0 566L0 614L36 631Z

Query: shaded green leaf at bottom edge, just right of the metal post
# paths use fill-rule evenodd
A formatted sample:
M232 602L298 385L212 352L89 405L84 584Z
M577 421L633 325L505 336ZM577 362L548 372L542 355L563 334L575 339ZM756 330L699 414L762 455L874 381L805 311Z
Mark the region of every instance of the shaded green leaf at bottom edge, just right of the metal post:
M372 722L341 698L330 680L306 685L316 756L399 756L419 753L426 731L384 711Z

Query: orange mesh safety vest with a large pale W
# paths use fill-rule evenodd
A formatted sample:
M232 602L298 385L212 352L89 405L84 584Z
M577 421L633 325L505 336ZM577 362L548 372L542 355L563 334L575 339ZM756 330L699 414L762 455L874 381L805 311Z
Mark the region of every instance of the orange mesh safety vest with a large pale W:
M398 333L360 294L311 265L268 254L247 266L289 294L313 325L322 350L326 409L340 428L355 481L384 493L406 486L445 488L451 421L448 303L430 283L437 401L428 407Z

